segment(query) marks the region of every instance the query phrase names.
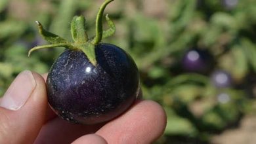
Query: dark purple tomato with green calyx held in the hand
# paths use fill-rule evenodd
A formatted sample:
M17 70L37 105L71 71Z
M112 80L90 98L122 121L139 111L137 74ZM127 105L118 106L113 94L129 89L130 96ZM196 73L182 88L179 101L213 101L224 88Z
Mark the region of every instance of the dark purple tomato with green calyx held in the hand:
M105 0L96 16L95 36L88 37L85 18L74 16L71 22L73 41L51 33L37 22L39 33L51 43L41 48L65 47L53 63L47 77L47 96L53 111L64 120L96 124L124 113L139 95L139 71L133 58L116 45L102 43L114 34L114 22L106 15L108 29L103 31Z

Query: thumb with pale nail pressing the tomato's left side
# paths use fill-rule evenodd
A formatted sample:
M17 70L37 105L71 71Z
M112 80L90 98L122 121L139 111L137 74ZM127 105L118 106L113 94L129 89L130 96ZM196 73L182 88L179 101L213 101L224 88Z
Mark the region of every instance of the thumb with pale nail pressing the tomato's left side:
M0 101L0 143L33 143L43 126L46 109L43 77L23 71Z

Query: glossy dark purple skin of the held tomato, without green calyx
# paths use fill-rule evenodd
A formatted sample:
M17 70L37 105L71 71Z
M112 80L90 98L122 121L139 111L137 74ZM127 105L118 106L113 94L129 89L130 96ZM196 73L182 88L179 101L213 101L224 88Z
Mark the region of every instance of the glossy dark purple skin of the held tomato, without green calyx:
M127 110L139 93L139 71L131 56L110 44L95 47L96 66L78 50L66 50L47 77L49 105L65 120L96 124Z

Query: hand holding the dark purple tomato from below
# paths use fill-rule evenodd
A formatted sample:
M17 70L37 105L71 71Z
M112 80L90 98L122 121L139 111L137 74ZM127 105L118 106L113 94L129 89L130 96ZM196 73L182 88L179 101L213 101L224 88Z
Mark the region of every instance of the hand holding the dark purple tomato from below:
M20 73L0 99L0 143L152 143L165 125L165 112L149 100L104 124L70 124L49 108L45 79L31 71Z

